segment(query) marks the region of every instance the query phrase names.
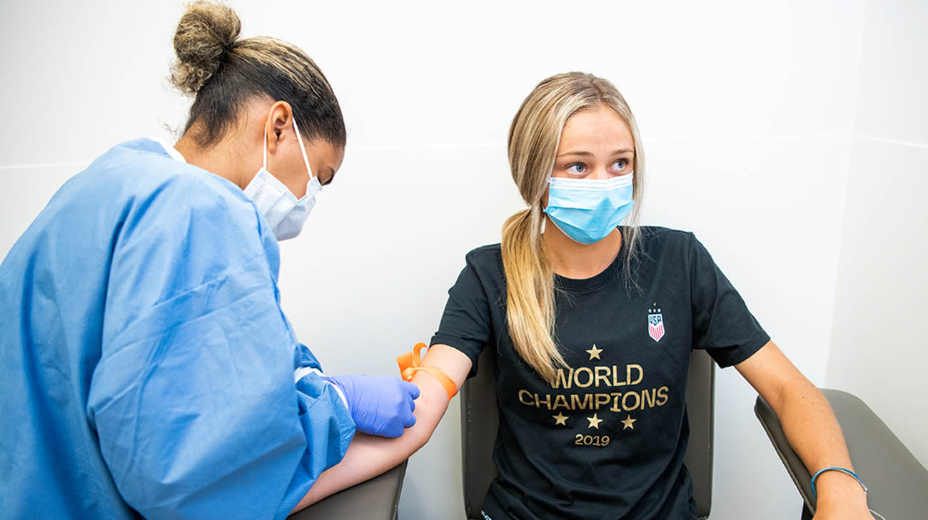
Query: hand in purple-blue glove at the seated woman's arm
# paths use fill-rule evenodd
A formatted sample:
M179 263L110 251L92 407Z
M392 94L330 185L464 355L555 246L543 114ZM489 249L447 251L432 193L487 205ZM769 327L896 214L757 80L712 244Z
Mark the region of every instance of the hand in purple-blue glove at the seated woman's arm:
M413 400L419 387L391 375L335 375L323 377L342 389L357 431L399 437L416 424Z

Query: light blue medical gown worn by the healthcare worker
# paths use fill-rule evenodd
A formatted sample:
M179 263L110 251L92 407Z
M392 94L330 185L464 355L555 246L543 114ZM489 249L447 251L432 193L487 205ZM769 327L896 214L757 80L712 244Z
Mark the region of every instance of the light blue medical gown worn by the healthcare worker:
M0 264L0 517L283 518L354 423L234 184L112 148ZM136 513L137 512L137 513Z

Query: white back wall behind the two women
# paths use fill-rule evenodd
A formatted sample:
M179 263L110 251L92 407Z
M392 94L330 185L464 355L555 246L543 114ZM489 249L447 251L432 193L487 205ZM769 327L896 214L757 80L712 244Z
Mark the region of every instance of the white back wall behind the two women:
M345 112L342 171L282 247L285 309L329 372L395 374L393 357L428 340L464 253L498 241L521 208L504 143L522 97L552 73L588 70L636 111L645 222L696 231L780 347L824 384L822 323L862 113L863 0L232 5L245 35L313 56ZM5 254L69 172L121 140L167 136L187 105L164 81L180 2L0 9ZM754 395L733 370L719 374L715 519L800 510ZM455 400L413 456L404 519L462 516L458 415Z

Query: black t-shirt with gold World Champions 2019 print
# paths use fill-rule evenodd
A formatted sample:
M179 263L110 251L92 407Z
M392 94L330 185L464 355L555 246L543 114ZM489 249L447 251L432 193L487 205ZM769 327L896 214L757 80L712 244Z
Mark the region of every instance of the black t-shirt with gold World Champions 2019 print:
M493 520L696 517L683 465L690 349L726 367L769 336L692 234L640 230L637 286L625 246L592 278L556 276L555 336L570 368L553 386L513 349L498 244L470 251L448 291L432 345L467 354L470 375L481 350L496 352L499 477L483 501Z

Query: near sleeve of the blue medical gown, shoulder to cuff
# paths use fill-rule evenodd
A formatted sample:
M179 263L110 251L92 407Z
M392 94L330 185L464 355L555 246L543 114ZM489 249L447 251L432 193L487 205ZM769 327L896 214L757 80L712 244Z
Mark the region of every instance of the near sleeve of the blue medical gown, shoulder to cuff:
M354 423L316 375L294 383L264 229L204 184L177 176L125 209L87 415L146 518L284 518Z

